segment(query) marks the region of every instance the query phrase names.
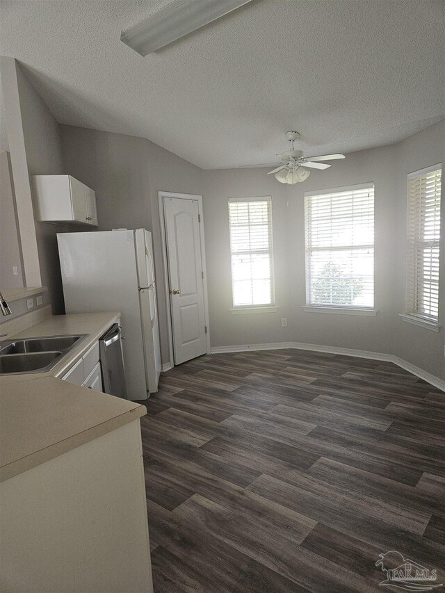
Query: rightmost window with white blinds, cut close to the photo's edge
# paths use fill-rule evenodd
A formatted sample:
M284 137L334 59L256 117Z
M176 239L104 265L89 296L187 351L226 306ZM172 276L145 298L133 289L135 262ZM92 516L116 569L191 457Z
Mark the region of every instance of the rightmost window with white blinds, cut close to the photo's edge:
M407 179L406 312L437 322L442 165Z

